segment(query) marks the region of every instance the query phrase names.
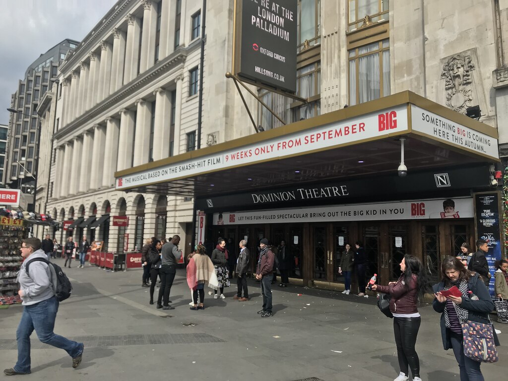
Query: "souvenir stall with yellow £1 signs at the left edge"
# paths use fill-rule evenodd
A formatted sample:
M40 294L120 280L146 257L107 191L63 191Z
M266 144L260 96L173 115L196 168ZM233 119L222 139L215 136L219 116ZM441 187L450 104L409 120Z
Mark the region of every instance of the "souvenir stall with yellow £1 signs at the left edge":
M0 306L21 303L16 276L21 266L21 240L28 231L22 219L0 217Z

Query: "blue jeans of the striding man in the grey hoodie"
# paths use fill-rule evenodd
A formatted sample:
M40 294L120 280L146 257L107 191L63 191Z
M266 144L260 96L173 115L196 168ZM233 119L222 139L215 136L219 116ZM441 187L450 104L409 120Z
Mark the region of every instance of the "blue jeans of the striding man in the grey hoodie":
M23 306L23 314L16 331L18 362L14 370L23 373L30 371L30 335L34 329L41 342L65 350L72 358L83 352L83 343L71 341L53 332L56 312L58 312L58 301L55 297Z

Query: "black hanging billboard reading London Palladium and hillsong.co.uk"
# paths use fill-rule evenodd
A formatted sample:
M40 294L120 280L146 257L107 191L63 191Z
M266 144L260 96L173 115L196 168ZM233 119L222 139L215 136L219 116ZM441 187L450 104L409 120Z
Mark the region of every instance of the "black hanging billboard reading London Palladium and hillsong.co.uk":
M296 92L296 0L236 0L233 73Z

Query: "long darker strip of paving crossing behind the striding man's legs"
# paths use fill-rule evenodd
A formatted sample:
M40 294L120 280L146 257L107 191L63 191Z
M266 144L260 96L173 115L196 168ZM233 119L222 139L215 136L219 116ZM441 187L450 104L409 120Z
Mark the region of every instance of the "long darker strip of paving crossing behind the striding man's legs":
M207 333L173 333L162 335L120 335L120 336L76 336L70 340L83 342L85 347L128 346L150 344L195 344L225 342L223 339ZM34 349L48 348L37 338L31 340ZM0 350L17 350L15 339L0 339Z

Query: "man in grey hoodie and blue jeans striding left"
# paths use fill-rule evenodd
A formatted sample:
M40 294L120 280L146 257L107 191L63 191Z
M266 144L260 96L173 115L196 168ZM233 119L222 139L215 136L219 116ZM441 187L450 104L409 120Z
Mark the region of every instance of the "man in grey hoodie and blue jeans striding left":
M56 274L53 266L45 262L34 261L26 271L26 264L35 258L47 261L46 253L41 249L39 238L25 238L21 243L21 257L25 260L18 272L18 291L23 305L23 314L16 331L18 342L18 361L13 368L5 369L8 376L29 374L30 371L30 335L34 331L43 343L65 350L72 357L72 367L77 368L83 356L83 343L71 341L53 332L58 301L55 298Z

